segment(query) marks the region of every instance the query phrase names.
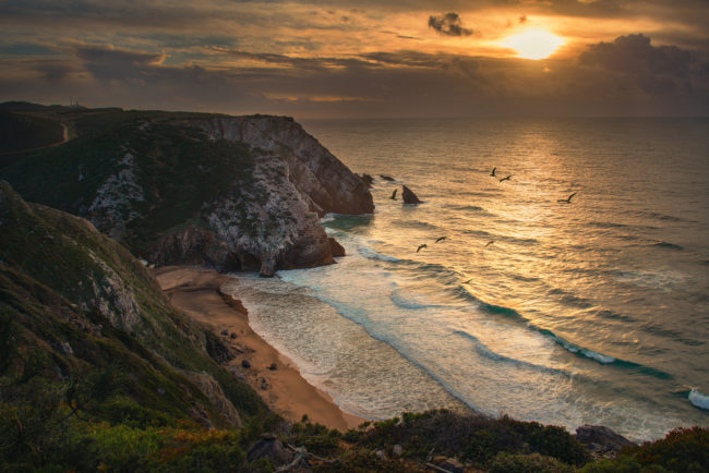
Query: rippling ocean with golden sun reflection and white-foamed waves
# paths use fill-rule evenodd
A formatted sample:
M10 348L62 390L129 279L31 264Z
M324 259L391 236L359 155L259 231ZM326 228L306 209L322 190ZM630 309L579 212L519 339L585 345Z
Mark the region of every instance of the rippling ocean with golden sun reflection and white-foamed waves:
M709 426L708 119L303 123L375 213L323 218L336 265L229 287L344 410Z

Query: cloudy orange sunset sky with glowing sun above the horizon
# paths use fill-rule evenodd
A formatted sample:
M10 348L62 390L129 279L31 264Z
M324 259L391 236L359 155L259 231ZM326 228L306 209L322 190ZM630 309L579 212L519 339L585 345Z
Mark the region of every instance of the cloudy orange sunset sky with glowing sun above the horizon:
M0 101L706 117L708 25L709 0L0 0Z

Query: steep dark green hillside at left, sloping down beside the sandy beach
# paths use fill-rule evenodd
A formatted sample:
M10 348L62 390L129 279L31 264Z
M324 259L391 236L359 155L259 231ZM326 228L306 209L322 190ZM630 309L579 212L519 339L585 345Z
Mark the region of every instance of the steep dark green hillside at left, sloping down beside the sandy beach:
M41 463L98 425L240 427L265 413L215 361L229 349L86 220L0 182L0 241L4 462Z

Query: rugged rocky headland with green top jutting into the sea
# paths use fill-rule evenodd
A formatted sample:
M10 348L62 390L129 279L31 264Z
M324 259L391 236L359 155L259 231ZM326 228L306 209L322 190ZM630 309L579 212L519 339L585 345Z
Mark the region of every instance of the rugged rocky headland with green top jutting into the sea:
M334 243L320 217L374 209L362 181L289 118L55 116L75 137L23 156L0 177L156 265L272 276L331 264Z

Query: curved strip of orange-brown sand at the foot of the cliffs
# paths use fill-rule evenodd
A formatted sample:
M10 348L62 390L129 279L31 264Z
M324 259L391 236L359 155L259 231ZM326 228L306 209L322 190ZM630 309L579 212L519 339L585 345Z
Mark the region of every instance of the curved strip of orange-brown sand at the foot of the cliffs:
M288 421L300 421L307 414L311 421L341 432L365 421L341 411L326 392L300 375L292 361L251 329L249 307L219 291L229 280L228 276L185 266L163 267L153 274L177 308L211 327L228 344L242 352L229 364L240 367L247 381L271 410ZM229 336L223 336L223 330L227 330ZM236 333L236 338L231 338L231 333ZM244 360L251 364L250 368L241 368ZM274 363L276 369L269 369ZM263 389L264 378L266 389Z

